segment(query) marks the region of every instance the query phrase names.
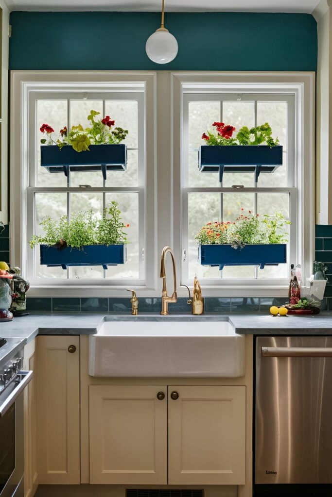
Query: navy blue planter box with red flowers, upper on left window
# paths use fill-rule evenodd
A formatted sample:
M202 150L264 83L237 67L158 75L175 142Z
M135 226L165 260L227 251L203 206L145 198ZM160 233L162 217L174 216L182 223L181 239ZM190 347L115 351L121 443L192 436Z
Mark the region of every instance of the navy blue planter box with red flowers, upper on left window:
M125 171L127 167L127 147L121 143L114 145L89 145L90 150L76 152L70 145L61 150L57 145L40 146L40 165L49 172Z

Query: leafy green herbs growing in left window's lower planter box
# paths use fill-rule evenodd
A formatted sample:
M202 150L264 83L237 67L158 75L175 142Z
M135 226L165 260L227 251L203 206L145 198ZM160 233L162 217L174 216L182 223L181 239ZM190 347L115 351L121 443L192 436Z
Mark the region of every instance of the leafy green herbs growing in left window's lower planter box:
M126 244L128 240L123 230L129 224L124 225L120 216L121 211L115 201L104 210L101 219L96 218L93 209L73 213L70 220L66 215L58 221L47 216L40 223L44 235L34 235L29 242L30 247L34 248L38 244L58 246L59 243L75 248Z

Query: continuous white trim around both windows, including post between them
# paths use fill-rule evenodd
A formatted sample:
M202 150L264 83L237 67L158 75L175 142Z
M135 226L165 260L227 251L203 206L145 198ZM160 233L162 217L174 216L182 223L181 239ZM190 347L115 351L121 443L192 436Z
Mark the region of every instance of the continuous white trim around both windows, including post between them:
M11 72L10 98L10 261L21 267L24 262L22 240L25 240L27 216L24 188L27 171L27 142L24 134L27 129L28 91L38 90L40 82L48 84L49 91L58 91L59 85L81 83L83 88L89 85L90 91L101 91L104 86L115 87L116 83L143 82L146 87L146 285L138 286L138 294L157 297L161 295L159 278L159 258L165 245L170 245L175 252L178 278L181 274L181 113L182 88L192 85L197 93L198 85L207 84L211 92L216 87L230 92L248 92L248 83L252 92L287 91L293 88L298 99L299 116L297 122L297 145L299 154L296 161L300 165L298 184L298 203L302 206L298 216L298 234L301 241L303 274L308 276L312 270L315 244L314 217L314 154L315 154L315 74L314 73L221 73L221 72L128 72L128 71L13 71ZM245 87L244 87L245 86ZM158 89L158 92L157 92ZM43 91L45 88L43 87ZM160 130L157 134L156 130ZM158 150L158 156L157 156ZM157 182L158 159L158 182ZM305 174L304 174L305 171ZM158 199L158 203L156 201ZM150 242L150 243L149 243ZM24 266L23 275L24 275ZM171 276L171 271L169 272ZM42 283L42 282L41 282ZM168 281L172 288L172 281ZM101 285L88 286L35 286L30 288L30 297L85 297L85 296L127 297L125 288ZM181 283L178 295L185 297L187 290ZM227 285L211 288L204 287L205 296L281 296L286 295L285 285L252 286Z

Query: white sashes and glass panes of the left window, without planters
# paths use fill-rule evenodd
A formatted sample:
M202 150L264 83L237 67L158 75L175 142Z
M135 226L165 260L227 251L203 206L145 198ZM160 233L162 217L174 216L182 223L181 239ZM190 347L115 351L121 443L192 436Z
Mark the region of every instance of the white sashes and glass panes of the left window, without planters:
M101 216L111 200L119 203L122 220L127 229L127 261L123 265L71 267L41 266L39 248L28 249L29 279L47 280L107 280L108 284L144 284L145 264L145 158L144 158L144 92L32 93L29 100L29 121L34 123L29 134L28 210L33 213L33 226L27 230L28 239L40 233L39 222L46 215L58 219L63 214L94 209ZM90 110L111 115L117 126L129 130L122 143L127 145L126 171L108 171L105 181L101 171L71 172L69 182L63 173L49 173L40 166L39 128L43 122L58 131L64 125L88 125ZM143 125L142 125L143 123ZM56 133L54 134L56 135ZM90 185L82 187L80 185ZM45 281L46 280L46 281ZM119 283L120 282L120 283Z

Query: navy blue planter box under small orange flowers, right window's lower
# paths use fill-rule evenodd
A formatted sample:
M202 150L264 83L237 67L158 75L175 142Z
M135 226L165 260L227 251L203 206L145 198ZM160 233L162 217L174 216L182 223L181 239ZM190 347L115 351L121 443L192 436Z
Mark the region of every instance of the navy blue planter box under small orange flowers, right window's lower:
M198 260L203 266L260 266L278 265L287 262L286 244L245 245L199 245Z

